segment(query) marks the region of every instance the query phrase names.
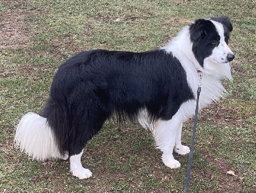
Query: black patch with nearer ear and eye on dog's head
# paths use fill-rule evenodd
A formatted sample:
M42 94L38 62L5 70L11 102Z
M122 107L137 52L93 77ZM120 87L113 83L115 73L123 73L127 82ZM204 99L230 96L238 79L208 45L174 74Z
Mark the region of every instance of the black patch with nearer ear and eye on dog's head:
M204 67L204 59L220 44L220 35L210 20L198 19L189 26L192 51L199 64Z

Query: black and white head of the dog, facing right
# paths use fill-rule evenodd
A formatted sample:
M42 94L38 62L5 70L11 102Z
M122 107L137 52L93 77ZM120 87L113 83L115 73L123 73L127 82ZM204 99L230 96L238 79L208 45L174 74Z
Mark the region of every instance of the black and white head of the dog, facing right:
M207 73L218 74L220 68L229 66L229 62L234 59L235 56L228 47L232 29L228 17L198 19L189 25L193 54ZM231 78L229 74L226 72L216 76Z

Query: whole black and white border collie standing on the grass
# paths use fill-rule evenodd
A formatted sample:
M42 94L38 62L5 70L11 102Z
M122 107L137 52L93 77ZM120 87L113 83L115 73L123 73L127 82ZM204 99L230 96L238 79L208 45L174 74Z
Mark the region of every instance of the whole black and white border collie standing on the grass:
M173 150L189 153L181 143L182 122L195 114L198 71L199 109L225 94L221 79L232 80L231 31L228 17L198 19L157 50L91 50L71 57L54 76L44 109L21 118L15 144L33 159L69 158L72 175L89 178L83 148L114 114L149 129L163 163L179 168Z

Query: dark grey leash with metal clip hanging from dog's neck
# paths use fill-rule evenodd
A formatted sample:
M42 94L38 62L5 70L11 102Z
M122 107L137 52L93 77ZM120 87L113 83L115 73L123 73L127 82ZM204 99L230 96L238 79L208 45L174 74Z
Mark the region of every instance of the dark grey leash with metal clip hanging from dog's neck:
M194 125L193 125L193 132L191 137L191 146L190 146L190 152L189 152L189 161L188 161L188 171L186 176L186 185L185 185L185 193L188 193L188 187L189 187L189 180L190 180L190 174L191 174L191 166L192 166L192 159L193 159L193 149L195 144L195 136L196 136L196 124L197 124L197 115L198 115L198 103L199 103L199 96L201 92L202 87L202 72L197 71L199 73L199 85L197 89L197 97L196 97L196 110L195 110L195 118L194 118Z

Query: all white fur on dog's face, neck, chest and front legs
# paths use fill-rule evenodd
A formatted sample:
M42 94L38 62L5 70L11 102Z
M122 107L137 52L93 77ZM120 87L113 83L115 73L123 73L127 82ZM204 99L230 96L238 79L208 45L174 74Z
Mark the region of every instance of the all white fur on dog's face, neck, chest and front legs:
M199 75L197 70L202 71L202 91L200 94L199 110L211 104L223 96L226 92L221 84L221 78L232 80L230 65L227 62L227 54L233 54L224 40L223 26L212 21L221 36L220 45L214 48L212 55L204 60L204 68L200 66L192 51L192 43L190 41L189 26L179 33L168 45L162 49L166 52L172 52L173 56L179 59L180 64L186 71L187 82L196 97L199 83ZM224 59L224 60L223 60ZM158 120L154 124L148 124L147 110L140 111L139 122L143 127L150 127L156 140L156 146L162 152L162 160L164 164L170 168L179 168L180 162L175 160L172 153L173 150L177 154L185 155L189 153L189 147L182 145L181 132L182 122L188 120L195 114L196 100L191 99L183 103L177 113L173 115L171 120Z

